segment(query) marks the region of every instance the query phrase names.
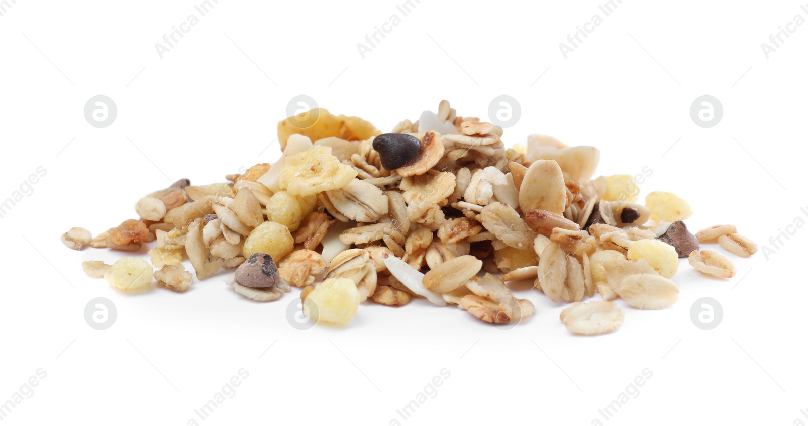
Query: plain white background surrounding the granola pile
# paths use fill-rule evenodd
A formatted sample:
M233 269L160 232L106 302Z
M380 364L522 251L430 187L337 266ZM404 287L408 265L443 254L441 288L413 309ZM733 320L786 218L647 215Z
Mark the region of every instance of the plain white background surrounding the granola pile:
M444 98L487 119L490 100L507 94L521 119L506 143L543 133L598 146L599 174L652 168L643 197L683 196L692 230L732 223L772 248L768 238L808 221L808 25L768 59L760 44L795 15L808 19L799 2L625 0L604 17L592 1L422 0L364 59L356 44L402 15L397 2L221 0L204 17L197 3L17 0L0 17L0 199L47 170L0 219L0 402L37 369L48 374L3 424L200 421L194 410L242 368L250 375L234 397L200 423L808 423L808 230L768 259L730 255L732 280L684 261L679 302L618 302L624 326L598 337L570 335L563 305L526 288L516 293L537 314L510 330L418 300L363 304L344 330L297 331L284 314L297 290L251 302L221 274L187 293L125 294L80 267L121 253L59 242L71 226L97 234L133 217L134 202L169 181L220 182L274 160L294 95L389 131ZM154 44L191 14L200 22L161 59ZM604 23L562 57L558 44L595 14ZM118 108L106 129L83 116L99 94ZM724 109L712 129L689 114L705 94ZM713 331L690 319L705 296L724 310ZM84 321L93 297L117 306L107 331ZM435 398L402 420L396 410L441 369L451 377ZM653 377L604 420L598 410L643 369Z

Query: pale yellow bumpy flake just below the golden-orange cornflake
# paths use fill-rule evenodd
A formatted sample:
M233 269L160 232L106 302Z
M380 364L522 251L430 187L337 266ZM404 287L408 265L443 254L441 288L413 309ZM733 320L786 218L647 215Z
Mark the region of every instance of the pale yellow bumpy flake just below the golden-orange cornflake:
M356 178L356 171L331 154L330 146L312 146L286 158L278 185L289 194L310 196L341 189Z

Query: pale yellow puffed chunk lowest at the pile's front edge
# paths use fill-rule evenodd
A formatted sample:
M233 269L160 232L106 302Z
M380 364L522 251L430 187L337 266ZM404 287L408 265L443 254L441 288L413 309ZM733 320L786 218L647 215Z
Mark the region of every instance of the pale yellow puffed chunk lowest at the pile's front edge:
M303 314L316 322L344 326L359 307L360 294L353 281L332 278L315 285L303 301Z

